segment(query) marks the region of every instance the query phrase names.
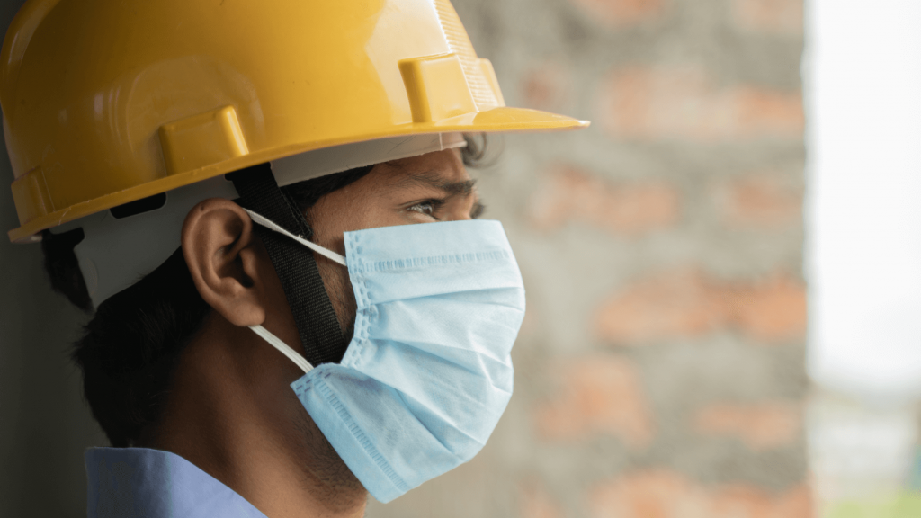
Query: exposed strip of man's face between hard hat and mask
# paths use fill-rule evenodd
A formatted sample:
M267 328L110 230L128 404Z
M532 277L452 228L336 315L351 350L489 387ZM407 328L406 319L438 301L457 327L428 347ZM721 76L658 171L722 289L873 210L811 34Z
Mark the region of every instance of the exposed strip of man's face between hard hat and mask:
M345 253L344 232L474 219L483 212L458 151L446 149L378 164L365 177L321 197L306 214L313 241ZM356 301L348 271L317 255L332 307L351 339Z

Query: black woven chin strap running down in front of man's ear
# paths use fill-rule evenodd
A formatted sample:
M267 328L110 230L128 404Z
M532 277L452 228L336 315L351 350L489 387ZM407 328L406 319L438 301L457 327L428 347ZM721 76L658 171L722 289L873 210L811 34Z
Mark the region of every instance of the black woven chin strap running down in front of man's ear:
M240 206L304 239L309 240L313 235L304 215L278 188L269 164L235 171L227 178L237 188ZM285 289L305 359L314 367L321 363L338 363L345 354L345 337L326 288L323 288L313 253L297 241L262 225L255 225L255 230Z

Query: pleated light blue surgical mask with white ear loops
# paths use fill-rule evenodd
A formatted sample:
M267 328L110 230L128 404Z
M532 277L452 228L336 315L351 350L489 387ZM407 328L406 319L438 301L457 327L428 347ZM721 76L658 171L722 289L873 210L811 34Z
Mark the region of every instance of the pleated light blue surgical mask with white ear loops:
M472 459L512 394L511 348L524 286L498 221L345 232L355 335L340 363L313 368L262 326L253 331L306 373L291 388L345 465L382 502Z

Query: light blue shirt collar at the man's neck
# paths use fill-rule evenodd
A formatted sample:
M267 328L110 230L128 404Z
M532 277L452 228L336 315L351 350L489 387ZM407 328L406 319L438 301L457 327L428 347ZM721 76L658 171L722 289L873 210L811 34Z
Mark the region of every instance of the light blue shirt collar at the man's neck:
M88 448L88 518L266 518L265 514L175 453Z

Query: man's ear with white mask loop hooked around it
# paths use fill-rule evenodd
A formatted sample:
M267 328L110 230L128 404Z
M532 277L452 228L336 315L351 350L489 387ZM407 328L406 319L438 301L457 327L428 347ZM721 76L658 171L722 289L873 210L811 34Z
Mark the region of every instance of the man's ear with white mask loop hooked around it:
M250 215L223 198L194 206L182 225L182 255L202 299L234 325L265 321L265 265ZM271 265L269 265L271 270ZM274 272L274 270L271 270Z

